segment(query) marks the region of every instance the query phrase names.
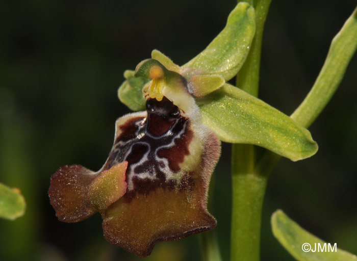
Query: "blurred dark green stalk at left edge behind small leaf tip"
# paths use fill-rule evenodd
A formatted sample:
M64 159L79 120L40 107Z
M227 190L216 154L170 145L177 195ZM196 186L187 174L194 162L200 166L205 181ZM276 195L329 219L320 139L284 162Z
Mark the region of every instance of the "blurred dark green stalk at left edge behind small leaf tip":
M39 212L37 208L40 199L35 192L36 172L34 161L28 153L31 151L30 136L23 134L24 124L14 121L13 118L3 118L0 121L0 166L1 179L10 187L21 190L27 204L24 216L14 220L0 219L0 242L2 244L1 260L20 261L38 260L35 256L37 249L37 232ZM15 242L15 244L14 244Z

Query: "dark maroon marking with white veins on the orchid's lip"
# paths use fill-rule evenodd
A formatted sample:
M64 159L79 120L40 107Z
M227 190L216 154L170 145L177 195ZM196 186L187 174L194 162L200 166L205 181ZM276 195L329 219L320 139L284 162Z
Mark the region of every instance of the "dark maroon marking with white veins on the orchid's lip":
M191 175L180 172L193 139L189 119L166 97L162 101L149 98L146 109L146 117L135 117L119 126L121 133L106 164L110 168L122 161L129 163L126 199L157 187L181 191L194 186Z

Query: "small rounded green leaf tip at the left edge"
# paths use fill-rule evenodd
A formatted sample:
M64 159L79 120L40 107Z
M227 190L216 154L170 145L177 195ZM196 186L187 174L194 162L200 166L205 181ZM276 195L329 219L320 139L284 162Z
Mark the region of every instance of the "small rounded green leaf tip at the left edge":
M0 217L14 220L25 212L25 200L17 189L0 183Z

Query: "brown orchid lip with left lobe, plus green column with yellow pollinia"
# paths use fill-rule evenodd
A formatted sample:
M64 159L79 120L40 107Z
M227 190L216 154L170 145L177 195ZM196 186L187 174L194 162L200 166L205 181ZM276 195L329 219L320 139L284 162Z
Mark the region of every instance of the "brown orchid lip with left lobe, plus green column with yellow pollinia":
M117 120L99 171L61 167L48 194L59 220L78 222L99 212L110 243L147 256L159 241L215 227L206 205L220 141L201 124L183 76L152 59L135 74L152 80L143 88L146 111Z

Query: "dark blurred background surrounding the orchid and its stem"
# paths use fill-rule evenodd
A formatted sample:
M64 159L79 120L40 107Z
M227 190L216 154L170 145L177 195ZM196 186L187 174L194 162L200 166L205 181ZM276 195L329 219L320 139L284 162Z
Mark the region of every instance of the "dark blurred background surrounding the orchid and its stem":
M21 190L25 215L0 220L1 260L139 260L107 243L97 214L61 223L49 204L62 165L98 170L115 120L125 69L157 48L182 65L223 29L236 1L2 1L0 3L0 182ZM356 2L273 0L262 50L260 98L291 114L313 85L331 39ZM310 159L283 159L270 176L262 217L262 260L293 260L273 238L281 208L326 242L357 253L357 56L310 131ZM231 145L223 144L211 213L229 258ZM147 260L199 260L197 235L159 243Z

